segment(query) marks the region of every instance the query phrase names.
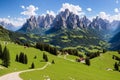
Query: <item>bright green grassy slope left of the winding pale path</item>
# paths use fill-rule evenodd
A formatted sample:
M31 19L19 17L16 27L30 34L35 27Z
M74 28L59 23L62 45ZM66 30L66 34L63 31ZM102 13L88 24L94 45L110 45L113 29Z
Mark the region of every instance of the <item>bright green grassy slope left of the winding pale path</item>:
M4 42L2 42L2 46L4 47ZM9 43L7 44L7 48L10 52L10 67L7 69L0 69L0 76L9 72L13 71L20 71L28 69L31 66L31 63L34 62L37 67L42 67L45 63L40 62L42 60L42 53L40 50L34 49L34 48L24 48L24 46L19 46L17 44ZM28 57L28 64L21 64L18 62L15 62L16 54L20 54L20 52L24 52L27 54ZM37 59L34 59L34 56L37 56Z

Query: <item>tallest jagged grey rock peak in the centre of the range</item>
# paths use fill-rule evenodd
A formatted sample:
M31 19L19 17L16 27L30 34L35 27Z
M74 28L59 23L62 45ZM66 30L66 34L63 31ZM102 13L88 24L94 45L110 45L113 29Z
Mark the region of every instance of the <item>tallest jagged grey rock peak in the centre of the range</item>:
M79 16L73 14L69 11L69 9L65 9L65 11L61 11L55 18L52 26L54 28L68 28L74 29L78 27Z

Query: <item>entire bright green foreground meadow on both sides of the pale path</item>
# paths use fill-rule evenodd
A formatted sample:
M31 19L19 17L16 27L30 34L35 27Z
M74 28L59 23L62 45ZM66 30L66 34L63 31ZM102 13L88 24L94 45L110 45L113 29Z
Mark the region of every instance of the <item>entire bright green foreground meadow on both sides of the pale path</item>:
M5 45L2 42L2 46ZM46 63L41 62L43 52L34 48L24 48L24 46L19 46L14 43L7 44L7 48L10 51L11 66L7 69L0 69L0 76L14 71L26 70L30 67L31 63L35 63L35 68L41 68ZM28 56L28 64L21 64L15 62L16 54L24 52ZM117 71L107 71L107 68L114 69L113 64L116 62L112 59L112 55L120 55L117 52L107 52L102 54L100 57L91 59L91 65L86 66L85 64L79 62L72 62L69 60L75 60L77 57L68 55L66 60L64 55L61 57L48 55L49 62L55 61L55 64L49 65L44 70L31 71L20 74L23 80L119 80L120 72ZM34 56L37 56L34 59Z

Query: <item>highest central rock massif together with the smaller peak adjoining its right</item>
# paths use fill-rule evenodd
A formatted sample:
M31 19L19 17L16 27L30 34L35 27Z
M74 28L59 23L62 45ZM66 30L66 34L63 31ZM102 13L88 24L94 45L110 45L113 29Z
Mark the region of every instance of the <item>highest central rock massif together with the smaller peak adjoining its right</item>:
M52 26L55 29L61 28L75 29L88 27L89 24L90 20L87 19L85 16L80 19L78 15L73 14L68 9L66 9L65 11L60 12L56 16Z

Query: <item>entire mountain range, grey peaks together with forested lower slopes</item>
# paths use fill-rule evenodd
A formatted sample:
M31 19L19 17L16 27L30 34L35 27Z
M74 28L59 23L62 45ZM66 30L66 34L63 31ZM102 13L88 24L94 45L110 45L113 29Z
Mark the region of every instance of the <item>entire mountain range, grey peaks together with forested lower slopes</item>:
M12 24L9 25L12 26ZM5 28L7 27L8 25ZM10 29L9 27L9 30L12 30L12 28ZM106 40L109 40L112 47L114 47L115 45L113 44L116 43L113 41L116 40L116 37L112 36L119 36L120 21L109 22L99 16L91 21L86 16L80 18L70 12L69 9L65 9L65 11L59 12L55 17L50 14L38 17L31 16L16 32L26 35L37 34L41 36L38 40L29 39L33 42L42 41L62 48L70 46L99 46L101 41L106 42ZM118 40L118 42L120 41Z

